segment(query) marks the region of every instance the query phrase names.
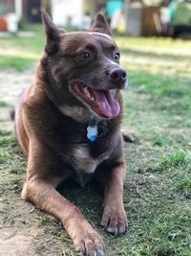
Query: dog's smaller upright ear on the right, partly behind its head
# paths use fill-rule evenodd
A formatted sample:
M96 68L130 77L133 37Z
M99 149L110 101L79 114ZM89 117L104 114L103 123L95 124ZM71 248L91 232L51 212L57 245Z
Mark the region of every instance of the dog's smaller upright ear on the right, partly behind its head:
M92 27L89 29L89 31L99 32L99 33L112 36L112 31L110 30L107 21L105 20L104 16L101 13L96 14L96 19Z

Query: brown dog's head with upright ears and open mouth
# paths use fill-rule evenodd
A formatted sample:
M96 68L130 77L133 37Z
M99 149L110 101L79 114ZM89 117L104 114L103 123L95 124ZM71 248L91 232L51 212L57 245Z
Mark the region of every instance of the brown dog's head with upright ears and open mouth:
M54 104L72 117L77 111L81 119L84 115L117 117L118 92L126 87L127 78L105 18L97 14L89 31L75 33L60 31L46 12L42 19L47 35L43 58L47 90Z

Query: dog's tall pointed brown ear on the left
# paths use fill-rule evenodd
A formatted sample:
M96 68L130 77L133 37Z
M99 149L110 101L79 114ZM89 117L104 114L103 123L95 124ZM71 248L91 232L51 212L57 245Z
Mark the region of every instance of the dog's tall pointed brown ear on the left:
M45 51L48 54L53 54L58 49L58 43L60 40L60 30L53 24L53 20L50 15L42 10L41 11L42 21L45 27L45 32L47 35L47 44ZM62 32L63 34L63 32Z

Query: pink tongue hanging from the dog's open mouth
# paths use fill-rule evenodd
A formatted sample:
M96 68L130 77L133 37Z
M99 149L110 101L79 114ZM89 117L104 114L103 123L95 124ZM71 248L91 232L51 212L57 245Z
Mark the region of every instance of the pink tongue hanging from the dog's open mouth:
M111 91L91 90L91 94L94 95L96 99L95 106L98 107L102 115L114 118L119 114L120 105L114 99Z

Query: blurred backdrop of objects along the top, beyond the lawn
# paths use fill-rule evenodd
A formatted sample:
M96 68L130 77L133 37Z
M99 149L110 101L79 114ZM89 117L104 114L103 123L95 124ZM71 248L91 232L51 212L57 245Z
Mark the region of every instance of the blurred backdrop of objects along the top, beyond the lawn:
M39 23L40 9L58 26L87 29L103 12L114 31L132 36L183 36L191 33L190 0L0 0L0 32L17 33Z

